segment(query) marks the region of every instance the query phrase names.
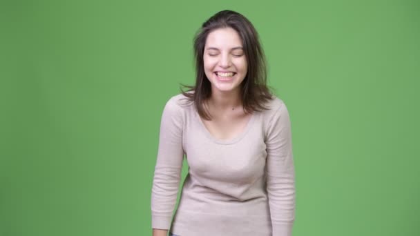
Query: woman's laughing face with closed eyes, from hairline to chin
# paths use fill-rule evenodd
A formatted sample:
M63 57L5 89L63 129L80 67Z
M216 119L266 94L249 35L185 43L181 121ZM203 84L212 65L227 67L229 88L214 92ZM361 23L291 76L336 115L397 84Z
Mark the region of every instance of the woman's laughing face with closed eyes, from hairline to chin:
M234 92L247 75L247 58L242 40L233 28L219 28L207 35L204 72L215 92Z

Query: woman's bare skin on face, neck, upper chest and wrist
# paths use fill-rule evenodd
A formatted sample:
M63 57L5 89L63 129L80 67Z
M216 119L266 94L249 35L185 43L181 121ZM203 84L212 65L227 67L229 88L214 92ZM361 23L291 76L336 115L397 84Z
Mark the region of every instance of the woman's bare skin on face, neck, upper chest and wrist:
M246 126L240 99L240 83L247 75L247 58L242 40L233 28L220 28L209 33L204 46L204 72L211 83L207 101L213 119L203 120L211 134L218 139L231 139ZM215 72L235 72L230 78L220 78ZM166 236L168 230L153 229L153 236Z

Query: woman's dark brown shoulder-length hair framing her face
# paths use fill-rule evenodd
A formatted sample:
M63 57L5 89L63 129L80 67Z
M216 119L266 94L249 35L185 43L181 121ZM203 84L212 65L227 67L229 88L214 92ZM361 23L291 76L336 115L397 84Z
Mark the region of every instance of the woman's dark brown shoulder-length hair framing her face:
M222 10L217 12L202 24L202 28L195 35L195 86L184 86L187 91L182 94L195 104L195 108L204 119L211 119L209 112L204 108L204 101L211 96L211 83L204 74L204 46L207 36L218 28L233 28L242 39L247 58L248 70L245 79L240 85L242 106L245 113L266 110L265 103L272 99L267 87L267 68L265 55L258 41L258 33L252 23L238 12Z

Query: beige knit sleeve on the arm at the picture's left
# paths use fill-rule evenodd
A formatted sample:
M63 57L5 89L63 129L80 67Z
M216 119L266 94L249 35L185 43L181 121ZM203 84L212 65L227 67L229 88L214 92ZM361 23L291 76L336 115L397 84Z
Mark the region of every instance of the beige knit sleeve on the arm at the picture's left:
M171 226L184 157L182 127L182 110L174 99L169 99L160 122L158 157L151 191L152 228L169 229Z

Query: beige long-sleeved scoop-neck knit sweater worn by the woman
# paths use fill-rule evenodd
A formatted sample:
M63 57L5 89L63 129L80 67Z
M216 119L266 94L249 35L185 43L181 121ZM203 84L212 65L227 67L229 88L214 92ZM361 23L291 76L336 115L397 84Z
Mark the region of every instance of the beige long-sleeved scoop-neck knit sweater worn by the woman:
M233 139L211 135L193 103L166 102L151 194L152 228L180 236L290 236L295 173L289 112L274 97ZM176 204L184 155L189 166Z

